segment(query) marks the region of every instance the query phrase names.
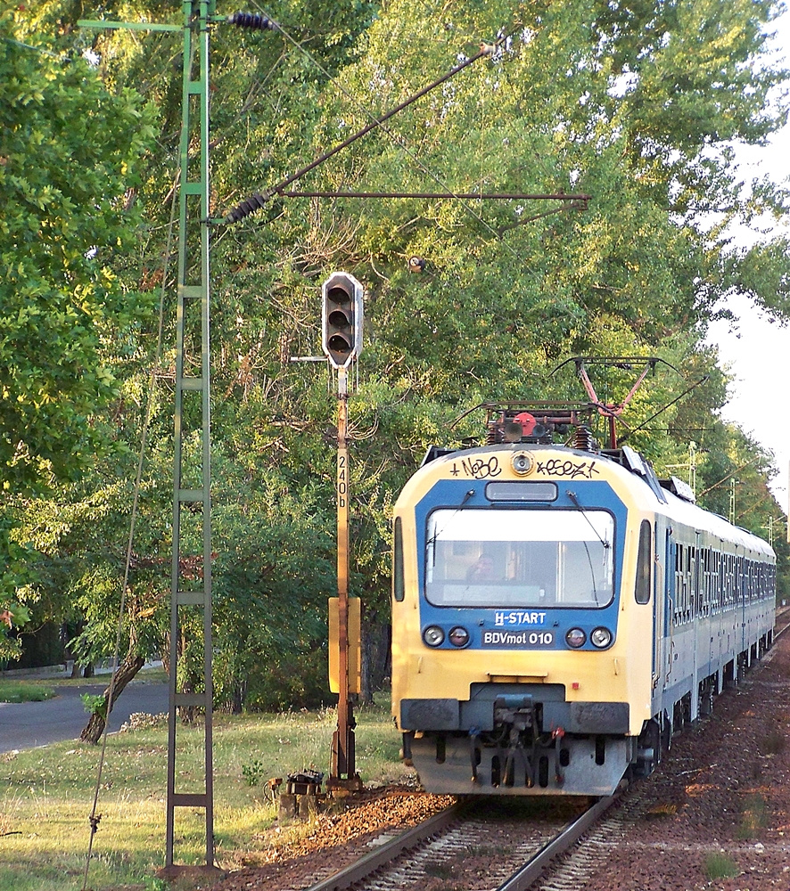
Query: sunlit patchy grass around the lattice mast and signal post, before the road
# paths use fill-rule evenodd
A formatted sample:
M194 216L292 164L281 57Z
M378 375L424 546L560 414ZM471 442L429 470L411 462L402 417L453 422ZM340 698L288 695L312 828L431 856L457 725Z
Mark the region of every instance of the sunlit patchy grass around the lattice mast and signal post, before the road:
M397 780L399 737L384 703L359 708L357 769L366 785ZM265 781L251 786L244 767L261 777L313 768L328 771L336 712L214 716L214 828L217 862L235 869L269 846L276 803ZM202 791L203 729L179 727L177 792ZM83 884L100 749L73 741L0 755L0 888L72 891ZM156 887L163 865L167 728L140 726L112 734L102 773L88 887L95 891ZM249 772L249 770L248 770ZM178 808L176 860L201 864L202 809Z

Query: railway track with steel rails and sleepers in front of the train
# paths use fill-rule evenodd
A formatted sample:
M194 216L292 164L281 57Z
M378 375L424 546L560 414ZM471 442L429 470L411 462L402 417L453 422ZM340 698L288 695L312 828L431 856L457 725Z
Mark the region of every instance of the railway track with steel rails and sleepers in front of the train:
M495 883L498 891L525 891L614 800L600 799L582 813L571 798L551 805L523 799L467 801L383 840L309 891L404 891L424 888L435 879L452 879L454 887L469 891Z

